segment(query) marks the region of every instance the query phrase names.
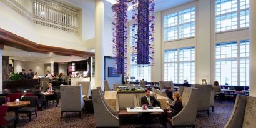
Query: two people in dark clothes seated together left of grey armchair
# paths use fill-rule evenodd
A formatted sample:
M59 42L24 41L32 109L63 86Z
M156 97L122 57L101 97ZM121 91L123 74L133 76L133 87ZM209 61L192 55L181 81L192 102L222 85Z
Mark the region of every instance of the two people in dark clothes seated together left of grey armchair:
M52 83L48 84L47 89L42 91L42 87L39 85L36 85L35 88L32 90L32 93L34 96L38 97L38 107L39 109L44 109L48 106L49 100L56 100L57 104L56 107L58 107L59 104L59 96L56 92L56 89L52 87Z

